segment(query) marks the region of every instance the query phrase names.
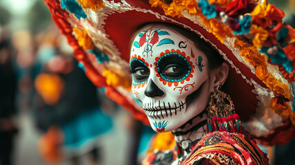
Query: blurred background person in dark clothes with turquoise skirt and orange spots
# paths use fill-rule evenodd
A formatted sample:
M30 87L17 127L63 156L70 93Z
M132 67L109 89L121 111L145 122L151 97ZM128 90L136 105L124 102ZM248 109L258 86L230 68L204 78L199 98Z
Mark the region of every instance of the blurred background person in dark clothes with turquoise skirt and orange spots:
M50 163L68 157L72 164L80 164L81 155L89 153L90 163L100 164L101 148L95 143L112 129L112 120L101 111L103 98L85 76L83 65L60 45L60 36L48 32L34 69L34 116L37 127L45 132L39 141L41 157Z

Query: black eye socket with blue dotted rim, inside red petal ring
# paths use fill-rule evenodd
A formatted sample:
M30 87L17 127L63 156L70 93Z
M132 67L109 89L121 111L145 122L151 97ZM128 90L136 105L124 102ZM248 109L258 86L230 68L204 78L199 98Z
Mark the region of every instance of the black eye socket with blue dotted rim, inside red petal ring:
M179 53L164 54L156 61L156 68L164 80L178 82L190 75L190 62Z

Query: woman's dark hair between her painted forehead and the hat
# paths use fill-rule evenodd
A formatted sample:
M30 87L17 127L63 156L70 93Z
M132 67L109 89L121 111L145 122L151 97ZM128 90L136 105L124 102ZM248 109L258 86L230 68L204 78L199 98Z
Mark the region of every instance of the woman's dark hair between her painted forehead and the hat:
M170 27L173 30L176 30L176 32L179 32L179 34L182 34L183 36L187 37L187 39L190 39L194 42L194 45L201 50L208 58L208 65L210 69L215 69L217 67L220 67L222 65L223 58L221 57L220 54L218 54L218 52L216 52L216 50L209 44L207 43L205 40L201 39L200 36L198 36L197 34L195 34L194 32L191 32L190 30L187 30L185 28L182 28L178 25L174 25L171 23L145 23L143 25L141 25L136 32L141 31L143 28L145 28L147 25L164 25L166 27ZM134 40L135 38L135 34L132 36L131 41ZM130 43L130 46L132 45L132 43Z

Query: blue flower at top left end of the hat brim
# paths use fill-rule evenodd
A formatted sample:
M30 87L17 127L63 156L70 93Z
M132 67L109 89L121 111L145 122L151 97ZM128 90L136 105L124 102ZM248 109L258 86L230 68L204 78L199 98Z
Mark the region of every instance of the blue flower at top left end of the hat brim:
M70 13L73 13L77 19L86 19L87 15L83 12L81 5L75 0L61 0L61 8L63 10L68 10Z

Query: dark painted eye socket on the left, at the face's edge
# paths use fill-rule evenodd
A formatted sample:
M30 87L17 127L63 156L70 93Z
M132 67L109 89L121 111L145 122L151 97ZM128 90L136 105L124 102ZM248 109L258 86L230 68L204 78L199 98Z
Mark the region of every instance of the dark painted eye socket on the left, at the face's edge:
M150 69L138 58L132 58L130 60L130 69L132 73L132 84L139 85L145 83L150 76Z

